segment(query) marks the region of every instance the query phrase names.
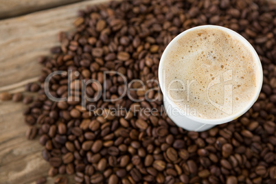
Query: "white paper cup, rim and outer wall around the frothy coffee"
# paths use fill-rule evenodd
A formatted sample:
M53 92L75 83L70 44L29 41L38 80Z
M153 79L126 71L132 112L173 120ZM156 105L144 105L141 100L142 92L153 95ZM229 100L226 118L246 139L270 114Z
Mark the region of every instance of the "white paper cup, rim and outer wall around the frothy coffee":
M192 32L194 30L198 30L198 29L202 29L202 28L209 28L209 27L223 30L223 31L235 36L235 38L239 38L240 41L242 41L244 43L244 45L246 45L246 47L248 47L248 49L252 52L253 56L255 56L255 60L257 62L257 72L260 74L259 75L260 77L257 78L257 90L255 91L255 94L253 95L251 102L249 102L240 112L235 113L233 115L229 115L222 119L203 119L203 118L196 117L193 115L187 115L187 110L184 111L183 109L179 108L179 106L176 106L176 104L170 99L170 97L168 96L168 93L165 89L165 84L164 84L165 74L163 73L163 62L164 62L165 56L172 49L171 48L172 45L174 45L174 43L176 41L178 41L179 38L182 38L185 34L187 34L187 32ZM238 117L240 117L241 115L246 113L246 111L248 111L249 108L251 108L251 106L253 106L253 104L257 100L257 97L259 96L260 91L262 89L262 80L263 80L262 65L260 62L260 58L257 55L257 52L255 51L255 49L252 47L252 45L248 41L246 41L246 39L244 37L242 37L237 32L234 32L233 30L229 30L226 27L221 27L221 26L217 26L217 25L201 25L198 27L193 27L189 30L186 30L185 32L182 32L178 36L176 36L170 42L170 44L165 48L165 51L163 51L163 54L161 56L161 60L159 63L159 71L158 72L159 72L158 73L159 74L159 85L161 87L161 91L163 92L163 102L164 102L164 107L165 107L166 113L168 114L170 119L172 119L172 121L177 126L184 128L185 130L189 130L189 131L200 132L200 131L208 130L209 128L212 128L218 124L224 124L227 122L231 122L233 119L237 119Z

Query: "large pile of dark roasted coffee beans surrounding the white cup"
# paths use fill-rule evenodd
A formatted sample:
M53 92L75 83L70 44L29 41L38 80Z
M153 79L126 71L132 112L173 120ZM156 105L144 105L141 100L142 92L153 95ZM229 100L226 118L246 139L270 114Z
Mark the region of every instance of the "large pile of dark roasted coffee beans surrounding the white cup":
M76 31L58 34L61 44L51 49L53 56L40 58L41 89L24 113L31 126L27 137L38 133L45 146L49 176L75 174L76 183L87 184L276 183L276 5L261 0L133 0L96 5L79 14ZM161 113L162 95L154 80L172 38L206 24L229 27L255 47L264 85L242 117L202 133L187 132ZM49 100L45 79L69 70L75 73L73 82L69 72L49 82L52 96L69 100ZM118 71L146 87L133 82L131 88L138 90L124 95L128 86L123 77L111 73L104 78L104 71ZM80 80L90 79L104 85L78 90ZM82 93L96 98L104 89L111 100L101 96L82 107ZM111 108L119 113L111 115ZM157 111L148 115L147 108ZM101 115L95 115L97 109Z

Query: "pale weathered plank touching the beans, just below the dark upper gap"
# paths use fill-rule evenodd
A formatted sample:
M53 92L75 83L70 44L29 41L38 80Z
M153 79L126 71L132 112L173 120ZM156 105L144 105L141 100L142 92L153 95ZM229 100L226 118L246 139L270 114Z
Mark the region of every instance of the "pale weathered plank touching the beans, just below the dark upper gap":
M57 45L60 31L73 29L77 11L101 1L84 1L0 21L0 87L39 76L38 56Z

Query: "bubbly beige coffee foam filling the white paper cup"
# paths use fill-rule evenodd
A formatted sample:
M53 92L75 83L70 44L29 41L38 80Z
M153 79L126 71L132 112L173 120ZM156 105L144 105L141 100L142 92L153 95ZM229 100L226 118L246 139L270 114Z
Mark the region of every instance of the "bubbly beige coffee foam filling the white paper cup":
M220 119L251 101L257 90L257 60L235 35L208 27L187 32L172 44L163 69L166 91L169 85L183 90L169 93L177 106L193 108L204 119ZM170 84L172 80L180 81ZM218 84L207 90L210 82Z

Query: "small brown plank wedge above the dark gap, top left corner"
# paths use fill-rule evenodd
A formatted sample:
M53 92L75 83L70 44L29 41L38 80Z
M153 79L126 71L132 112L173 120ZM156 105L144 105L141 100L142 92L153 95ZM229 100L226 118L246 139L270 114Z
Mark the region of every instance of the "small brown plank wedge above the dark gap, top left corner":
M82 0L0 0L0 19L76 3Z

